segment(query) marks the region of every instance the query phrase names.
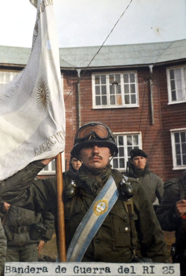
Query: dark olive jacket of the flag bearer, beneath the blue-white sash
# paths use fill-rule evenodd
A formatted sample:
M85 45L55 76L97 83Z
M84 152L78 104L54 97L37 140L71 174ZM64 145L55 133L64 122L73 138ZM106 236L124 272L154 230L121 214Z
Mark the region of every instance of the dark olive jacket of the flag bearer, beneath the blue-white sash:
M48 210L55 215L55 220L57 220L55 177L33 180L43 167L44 165L39 161L30 163L14 176L1 182L0 194L3 200L11 204L24 205L25 208L33 209L37 212ZM94 193L90 193L90 187L85 185L83 179L80 180L82 169L83 166L78 170L76 179L78 192L75 197L75 203L72 202L72 199L64 196L67 248L83 216L101 189L101 187L98 187ZM112 170L111 173L118 185L123 178L122 174L116 170ZM137 246L137 252L143 256L148 256L154 262L165 262L167 260L166 243L152 204L149 202L139 182L135 179L129 180L133 186L134 194L135 215L133 219L136 226L134 241ZM101 185L105 183L101 182L101 176L95 177L95 181ZM94 180L92 183L94 184ZM68 184L64 177L64 195ZM122 199L119 197L91 241L83 261L129 262L132 257L130 247L130 220Z

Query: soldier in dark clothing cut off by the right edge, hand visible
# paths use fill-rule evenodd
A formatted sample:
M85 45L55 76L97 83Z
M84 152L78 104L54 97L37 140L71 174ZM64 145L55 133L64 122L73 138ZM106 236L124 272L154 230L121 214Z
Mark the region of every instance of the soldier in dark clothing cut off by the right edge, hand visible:
M186 170L181 178L164 184L163 198L156 211L162 230L175 231L172 245L173 263L180 263L181 276L186 275Z

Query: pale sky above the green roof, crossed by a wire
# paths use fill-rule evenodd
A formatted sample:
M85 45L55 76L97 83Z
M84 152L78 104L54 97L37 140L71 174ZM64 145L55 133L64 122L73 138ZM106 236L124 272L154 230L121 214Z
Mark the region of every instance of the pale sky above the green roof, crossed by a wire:
M60 48L186 39L186 0L53 0L53 3ZM31 48L36 10L29 0L1 1L0 45Z

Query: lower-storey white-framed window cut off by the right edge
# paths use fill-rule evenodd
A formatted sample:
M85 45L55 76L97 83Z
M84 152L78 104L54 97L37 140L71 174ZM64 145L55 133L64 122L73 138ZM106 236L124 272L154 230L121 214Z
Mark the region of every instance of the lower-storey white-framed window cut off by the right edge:
M171 129L173 170L186 169L186 128Z

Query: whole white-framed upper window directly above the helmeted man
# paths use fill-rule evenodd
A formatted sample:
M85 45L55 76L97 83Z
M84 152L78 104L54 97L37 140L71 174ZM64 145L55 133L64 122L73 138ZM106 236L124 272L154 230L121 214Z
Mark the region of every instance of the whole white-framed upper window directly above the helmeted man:
M92 74L93 108L138 107L137 71Z

